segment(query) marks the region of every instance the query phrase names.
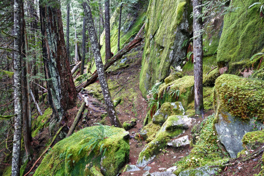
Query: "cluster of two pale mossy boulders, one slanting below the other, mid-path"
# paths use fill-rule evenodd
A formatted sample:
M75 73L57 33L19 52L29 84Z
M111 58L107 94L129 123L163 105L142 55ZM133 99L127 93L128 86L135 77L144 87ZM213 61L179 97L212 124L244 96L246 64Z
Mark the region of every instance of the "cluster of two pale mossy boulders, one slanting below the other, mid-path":
M149 142L139 154L138 167L145 167L155 158L159 150L167 146L171 138L184 133L191 125L191 118L184 115L181 102L164 103L155 113L152 121L143 127L141 134L147 134L145 141ZM140 134L137 138L140 139Z

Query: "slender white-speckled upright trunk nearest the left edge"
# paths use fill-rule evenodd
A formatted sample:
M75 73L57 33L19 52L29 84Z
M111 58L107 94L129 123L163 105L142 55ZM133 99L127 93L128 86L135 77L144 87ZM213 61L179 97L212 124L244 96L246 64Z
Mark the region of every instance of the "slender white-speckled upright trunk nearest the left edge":
M14 0L14 101L15 101L15 127L12 154L12 176L20 175L21 151L21 120L22 120L22 94L21 94L21 1Z

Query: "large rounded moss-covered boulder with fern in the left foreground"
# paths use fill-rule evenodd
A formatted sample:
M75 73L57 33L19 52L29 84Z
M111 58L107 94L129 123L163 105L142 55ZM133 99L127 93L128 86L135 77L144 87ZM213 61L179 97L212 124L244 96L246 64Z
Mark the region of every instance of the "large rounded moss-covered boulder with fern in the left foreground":
M121 128L84 128L55 144L34 175L92 175L96 168L103 175L116 175L129 160L128 138L128 132ZM97 145L89 145L91 140L98 140Z

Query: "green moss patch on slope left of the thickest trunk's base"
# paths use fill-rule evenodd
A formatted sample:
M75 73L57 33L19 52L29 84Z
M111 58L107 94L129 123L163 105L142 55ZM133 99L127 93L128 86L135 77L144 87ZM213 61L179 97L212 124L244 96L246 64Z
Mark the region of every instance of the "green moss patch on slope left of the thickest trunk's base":
M44 126L48 126L46 124L46 121L50 118L51 114L52 114L52 108L49 107L45 110L42 116L38 116L37 118L31 121L32 137L36 137Z

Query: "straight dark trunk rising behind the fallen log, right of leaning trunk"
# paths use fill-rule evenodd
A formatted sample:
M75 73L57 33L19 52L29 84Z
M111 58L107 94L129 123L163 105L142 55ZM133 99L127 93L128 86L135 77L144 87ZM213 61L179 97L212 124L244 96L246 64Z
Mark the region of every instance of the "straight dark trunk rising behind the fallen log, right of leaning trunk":
M111 57L109 0L105 0L105 61Z

